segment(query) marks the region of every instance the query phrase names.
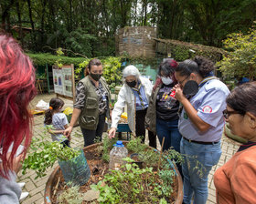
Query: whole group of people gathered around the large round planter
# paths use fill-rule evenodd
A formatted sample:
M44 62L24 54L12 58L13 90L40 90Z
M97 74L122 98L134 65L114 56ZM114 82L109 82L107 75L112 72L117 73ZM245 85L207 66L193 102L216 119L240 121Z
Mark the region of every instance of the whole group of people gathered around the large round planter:
M109 137L115 137L118 121L127 105L128 124L133 135L145 137L156 147L156 137L164 150L174 148L184 155L179 167L184 180L183 203L206 203L208 173L221 155L220 138L225 123L233 134L246 138L238 152L217 169L214 183L218 203L256 203L256 82L228 87L213 75L214 64L197 56L181 63L166 59L158 67L155 86L140 76L135 66L123 69L123 87L114 108L102 75L99 59L92 59L88 76L76 88L76 102L70 124L61 113L64 105L52 98L45 125L53 140L69 147L70 133L79 120L84 147L101 139L105 117L112 116ZM16 183L22 159L32 137L32 116L28 104L36 96L35 69L12 37L0 36L0 203L19 203L21 188ZM176 102L166 107L170 93ZM111 113L112 112L112 113ZM165 140L164 140L165 138ZM24 149L17 154L20 145ZM203 174L197 173L197 161ZM242 190L241 190L242 189Z

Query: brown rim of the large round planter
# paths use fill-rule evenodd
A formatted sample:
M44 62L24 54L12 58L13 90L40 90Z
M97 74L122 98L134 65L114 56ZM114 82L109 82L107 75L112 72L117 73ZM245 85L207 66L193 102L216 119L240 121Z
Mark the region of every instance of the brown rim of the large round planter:
M123 141L123 144L127 144L127 143L128 143L128 141ZM83 151L97 148L100 145L101 145L101 143L93 144L91 146L83 148ZM151 148L151 147L148 147L148 148ZM176 196L175 204L181 204L182 201L183 201L183 182L182 182L180 173L179 173L178 169L176 168L175 163L173 163L173 167L176 170L176 181L177 181L177 192L176 192L177 196ZM58 182L57 175L59 174L59 171L60 171L60 168L58 166L57 168L55 168L53 170L53 172L51 173L51 175L48 178L48 181L47 181L47 184L46 184L46 189L45 189L45 196L44 196L46 204L52 203L51 202L52 191L53 191L54 187L56 186L56 184Z

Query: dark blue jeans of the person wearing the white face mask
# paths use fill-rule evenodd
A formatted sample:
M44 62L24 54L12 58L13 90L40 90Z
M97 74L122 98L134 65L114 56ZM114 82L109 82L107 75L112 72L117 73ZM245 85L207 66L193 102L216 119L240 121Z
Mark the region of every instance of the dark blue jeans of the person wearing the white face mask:
M180 152L180 139L182 138L178 128L178 120L163 120L156 119L156 134L162 145L165 137L163 151L173 147L177 152Z

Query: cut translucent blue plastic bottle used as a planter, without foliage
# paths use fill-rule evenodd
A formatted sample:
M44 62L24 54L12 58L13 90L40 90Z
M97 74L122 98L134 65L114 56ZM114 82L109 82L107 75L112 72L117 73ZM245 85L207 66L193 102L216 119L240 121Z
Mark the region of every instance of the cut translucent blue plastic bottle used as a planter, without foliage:
M91 171L82 150L78 157L68 161L58 160L58 163L66 183L82 186L90 179Z

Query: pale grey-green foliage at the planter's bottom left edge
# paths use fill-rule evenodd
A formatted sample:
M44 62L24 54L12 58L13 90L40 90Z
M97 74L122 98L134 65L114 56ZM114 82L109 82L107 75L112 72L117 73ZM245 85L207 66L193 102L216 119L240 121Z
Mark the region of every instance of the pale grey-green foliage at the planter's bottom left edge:
M68 184L68 186L70 186ZM83 200L83 194L79 192L79 186L71 186L69 189L65 189L64 192L58 197L58 203L61 204L81 204Z

